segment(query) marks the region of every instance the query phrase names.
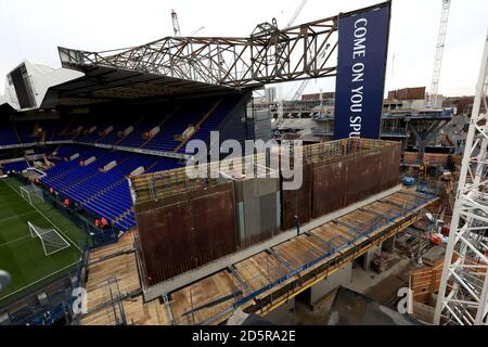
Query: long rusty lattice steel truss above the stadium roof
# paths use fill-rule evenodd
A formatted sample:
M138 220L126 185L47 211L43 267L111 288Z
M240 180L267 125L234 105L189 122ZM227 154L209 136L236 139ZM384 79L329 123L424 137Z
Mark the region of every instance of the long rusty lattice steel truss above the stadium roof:
M59 48L63 67L97 66L227 87L335 76L338 16L249 37L166 37L131 49L87 52ZM258 28L259 29L259 28ZM332 47L320 59L326 47Z

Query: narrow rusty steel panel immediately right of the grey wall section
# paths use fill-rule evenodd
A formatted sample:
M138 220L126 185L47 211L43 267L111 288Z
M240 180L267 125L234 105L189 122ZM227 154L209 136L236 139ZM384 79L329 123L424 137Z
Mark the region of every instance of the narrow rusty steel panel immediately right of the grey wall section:
M283 210L282 229L287 230L295 227L295 216L298 216L300 223L307 222L311 218L311 184L312 164L303 165L303 183L298 190L282 191Z

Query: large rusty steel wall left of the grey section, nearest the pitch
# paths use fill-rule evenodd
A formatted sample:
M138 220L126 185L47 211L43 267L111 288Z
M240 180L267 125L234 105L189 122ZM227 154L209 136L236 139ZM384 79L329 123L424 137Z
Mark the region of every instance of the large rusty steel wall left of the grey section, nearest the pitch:
M231 183L138 204L136 218L149 285L236 250Z

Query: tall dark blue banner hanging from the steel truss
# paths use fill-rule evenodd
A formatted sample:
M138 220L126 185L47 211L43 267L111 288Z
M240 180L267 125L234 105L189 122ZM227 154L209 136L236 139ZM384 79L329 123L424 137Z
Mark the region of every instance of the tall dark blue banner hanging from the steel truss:
M338 21L334 139L380 139L390 2Z

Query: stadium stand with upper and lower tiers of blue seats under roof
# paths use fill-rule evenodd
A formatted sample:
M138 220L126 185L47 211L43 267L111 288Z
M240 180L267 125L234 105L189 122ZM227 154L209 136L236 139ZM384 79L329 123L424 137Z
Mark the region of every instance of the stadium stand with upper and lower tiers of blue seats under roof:
M51 153L49 162L54 164L40 178L44 188L53 189L60 197L68 198L93 218L105 217L125 232L136 224L127 176L139 167L144 172L153 172L182 166L182 162L162 155L183 154L184 144L191 139L208 141L210 131L223 123L235 128L234 123L241 121L241 117L232 121L226 117L242 100L241 94L233 94L164 103L147 112L101 107L93 113L62 114L57 119L3 120L0 145L38 142L34 152ZM112 130L105 133L110 127ZM132 131L124 136L127 129ZM154 133L150 134L153 129ZM66 140L73 143L57 143L52 147L56 141ZM51 147L42 146L44 142L50 142ZM160 154L154 156L141 151ZM89 160L87 165L86 160ZM105 170L107 165L113 167ZM11 163L3 166L3 171L27 167L25 160Z

